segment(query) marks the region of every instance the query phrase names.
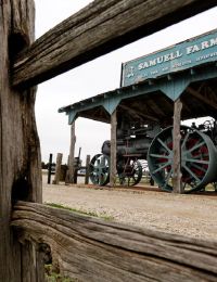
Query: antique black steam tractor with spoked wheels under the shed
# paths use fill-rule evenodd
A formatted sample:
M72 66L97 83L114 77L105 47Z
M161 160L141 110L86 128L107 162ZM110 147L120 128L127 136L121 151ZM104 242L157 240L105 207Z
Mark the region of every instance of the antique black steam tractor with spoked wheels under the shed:
M217 181L217 124L181 126L181 182L184 192L199 191ZM110 141L90 163L94 184L110 181ZM162 190L173 191L173 127L123 123L117 129L117 176L120 184L135 185L142 178L146 159L152 179Z

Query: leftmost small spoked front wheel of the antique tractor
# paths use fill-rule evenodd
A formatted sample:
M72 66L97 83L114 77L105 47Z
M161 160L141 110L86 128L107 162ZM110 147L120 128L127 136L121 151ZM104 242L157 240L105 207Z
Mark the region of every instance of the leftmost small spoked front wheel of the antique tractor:
M110 158L106 155L94 155L90 162L90 180L95 185L106 185L110 182Z

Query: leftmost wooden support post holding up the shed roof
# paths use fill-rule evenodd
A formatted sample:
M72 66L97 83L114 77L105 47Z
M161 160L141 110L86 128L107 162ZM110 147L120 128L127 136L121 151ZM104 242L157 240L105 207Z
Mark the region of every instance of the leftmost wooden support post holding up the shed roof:
M66 174L65 183L74 183L75 182L75 143L76 143L76 136L75 136L75 121L71 126L71 149L69 149L69 158L68 158L68 171Z

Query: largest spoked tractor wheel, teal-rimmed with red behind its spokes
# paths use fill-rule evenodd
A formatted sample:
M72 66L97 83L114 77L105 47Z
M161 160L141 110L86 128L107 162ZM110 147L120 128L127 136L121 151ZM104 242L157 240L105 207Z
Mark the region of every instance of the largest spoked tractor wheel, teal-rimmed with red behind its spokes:
M203 189L216 179L217 151L203 132L181 126L181 182L184 192ZM157 134L148 152L150 174L162 190L173 191L173 127Z

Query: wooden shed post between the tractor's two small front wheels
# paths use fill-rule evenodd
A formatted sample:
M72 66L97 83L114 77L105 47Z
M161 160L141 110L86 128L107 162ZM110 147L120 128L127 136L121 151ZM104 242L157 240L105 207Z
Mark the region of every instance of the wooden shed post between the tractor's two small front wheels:
M110 159L110 185L115 185L117 164L117 115L116 110L111 115L111 159Z

